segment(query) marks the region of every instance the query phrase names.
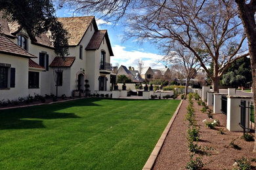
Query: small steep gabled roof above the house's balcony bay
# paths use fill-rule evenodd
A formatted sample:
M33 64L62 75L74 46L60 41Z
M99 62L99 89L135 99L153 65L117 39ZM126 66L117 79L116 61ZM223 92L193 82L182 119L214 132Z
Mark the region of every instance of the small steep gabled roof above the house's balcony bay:
M114 56L111 44L110 44L110 39L108 38L108 31L107 30L98 30L95 31L93 34L93 37L91 38L91 41L85 48L85 50L98 50L100 48L100 44L102 43L104 37L106 38L106 43L108 45L108 51L110 52L110 56Z

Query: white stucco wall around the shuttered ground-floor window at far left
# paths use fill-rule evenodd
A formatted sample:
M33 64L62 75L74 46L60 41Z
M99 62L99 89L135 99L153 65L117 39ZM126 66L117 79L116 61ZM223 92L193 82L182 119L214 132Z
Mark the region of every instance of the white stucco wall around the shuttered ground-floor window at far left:
M28 58L0 54L0 63L8 63L15 68L15 88L0 90L0 100L26 97L28 95Z

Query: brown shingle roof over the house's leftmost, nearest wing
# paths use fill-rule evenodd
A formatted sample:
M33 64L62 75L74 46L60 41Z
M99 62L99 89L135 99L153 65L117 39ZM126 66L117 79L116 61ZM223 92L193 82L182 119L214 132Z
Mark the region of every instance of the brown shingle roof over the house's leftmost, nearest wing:
M0 42L0 53L11 54L23 58L37 58L23 48L20 48L20 46L9 40L5 35L0 35Z

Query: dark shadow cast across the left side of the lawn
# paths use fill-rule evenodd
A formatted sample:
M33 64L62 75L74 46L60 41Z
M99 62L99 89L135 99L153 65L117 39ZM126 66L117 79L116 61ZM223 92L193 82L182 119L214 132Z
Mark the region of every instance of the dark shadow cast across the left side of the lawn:
M52 105L41 105L19 109L0 110L0 129L33 129L45 128L43 120L27 119L64 119L80 118L74 113L62 112L70 107L98 106L94 101L100 99L81 99Z

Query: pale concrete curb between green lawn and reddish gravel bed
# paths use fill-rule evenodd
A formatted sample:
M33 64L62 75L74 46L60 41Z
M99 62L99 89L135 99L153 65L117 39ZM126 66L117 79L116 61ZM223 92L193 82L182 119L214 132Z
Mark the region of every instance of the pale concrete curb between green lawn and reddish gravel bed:
M181 100L181 103L179 104L179 106L177 107L175 113L171 117L171 120L169 121L169 123L165 127L163 133L161 134L160 139L158 140L158 143L156 143L156 146L155 146L154 150L150 154L150 157L146 161L146 164L144 165L142 170L149 170L149 169L152 169L152 167L154 166L156 158L158 157L158 154L159 154L159 152L161 150L161 147L163 146L163 142L165 141L165 138L167 137L169 129L171 128L171 125L173 124L173 121L175 120L175 118L176 118L176 116L177 116L177 114L178 114L178 112L179 112L179 110L181 108L182 102L183 102L183 100Z

